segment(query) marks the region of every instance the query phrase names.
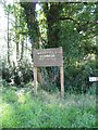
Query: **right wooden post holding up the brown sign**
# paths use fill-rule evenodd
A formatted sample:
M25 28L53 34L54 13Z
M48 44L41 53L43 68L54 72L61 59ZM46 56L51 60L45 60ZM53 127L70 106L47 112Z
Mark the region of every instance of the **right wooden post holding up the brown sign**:
M63 78L63 65L60 67L60 80L61 80L61 99L64 98L64 78Z

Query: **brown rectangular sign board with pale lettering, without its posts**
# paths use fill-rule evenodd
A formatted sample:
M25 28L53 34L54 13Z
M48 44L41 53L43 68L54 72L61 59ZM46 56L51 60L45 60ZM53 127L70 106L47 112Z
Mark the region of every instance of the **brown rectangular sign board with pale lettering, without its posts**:
M34 50L34 66L62 66L62 48Z

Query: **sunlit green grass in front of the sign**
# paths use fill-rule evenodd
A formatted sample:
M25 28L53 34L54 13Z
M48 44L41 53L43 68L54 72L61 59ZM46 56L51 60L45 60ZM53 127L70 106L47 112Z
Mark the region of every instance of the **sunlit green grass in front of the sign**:
M0 127L3 128L91 128L96 127L96 95L69 94L29 88L1 87Z

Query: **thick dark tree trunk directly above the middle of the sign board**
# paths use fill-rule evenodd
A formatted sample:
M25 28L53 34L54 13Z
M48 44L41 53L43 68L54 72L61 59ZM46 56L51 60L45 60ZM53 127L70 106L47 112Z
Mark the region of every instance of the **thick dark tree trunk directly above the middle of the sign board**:
M44 13L47 17L47 48L56 48L59 46L59 17L62 8L61 3L44 3Z

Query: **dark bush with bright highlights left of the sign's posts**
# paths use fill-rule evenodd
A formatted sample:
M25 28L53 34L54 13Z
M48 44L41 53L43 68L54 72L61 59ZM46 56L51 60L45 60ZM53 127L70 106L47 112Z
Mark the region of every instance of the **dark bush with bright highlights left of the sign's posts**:
M24 86L33 80L33 67L28 61L20 62L19 66L2 65L2 79L7 82Z

